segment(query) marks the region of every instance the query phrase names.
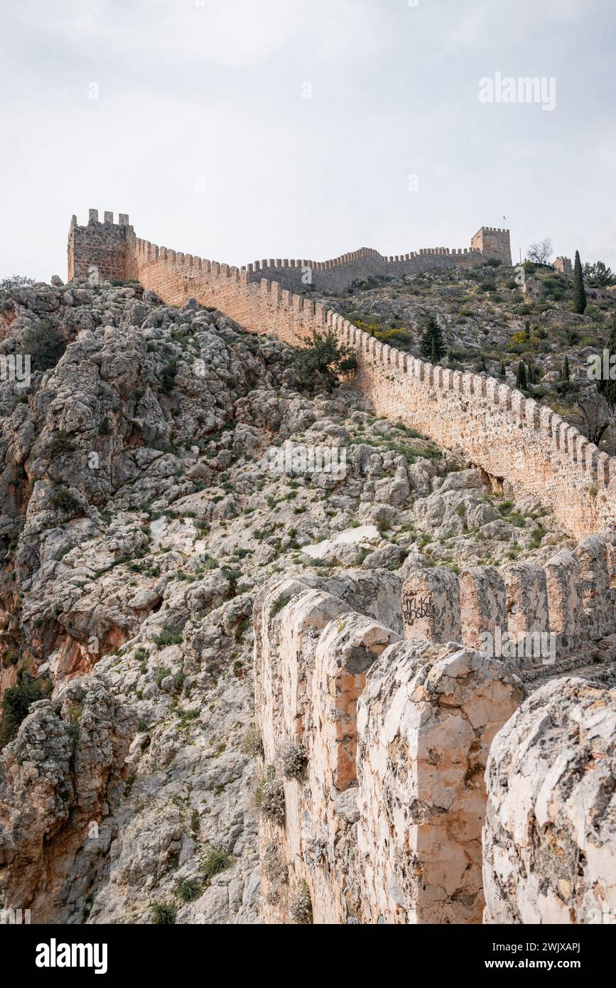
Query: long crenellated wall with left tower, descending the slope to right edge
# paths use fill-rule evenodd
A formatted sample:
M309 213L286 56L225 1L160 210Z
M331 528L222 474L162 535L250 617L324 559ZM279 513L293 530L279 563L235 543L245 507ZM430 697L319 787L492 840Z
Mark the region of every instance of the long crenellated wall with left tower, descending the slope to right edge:
M578 539L614 524L616 459L601 453L551 409L493 377L448 371L417 360L380 343L305 294L283 288L281 282L289 284L289 273L301 273L297 261L269 261L259 270L253 265L240 270L135 238L125 214L120 214L118 225L113 213L106 212L105 217L100 223L98 211L90 210L88 226L80 227L73 216L69 277L88 278L95 273L102 278L135 279L168 304L182 305L195 298L250 332L270 333L290 344L329 327L356 352L357 384L377 415L412 425L439 446L462 450L492 477L506 481L513 496L536 496ZM483 264L498 252L503 260L508 231L482 227L473 243L484 244L485 251L476 246L468 254L451 254L442 248L401 260L365 250L322 262L321 270L325 274L344 269L342 284L351 274L350 281L369 277L372 263L380 263L379 258L388 267L399 265L400 274L407 273L403 265L421 271L452 263ZM277 280L272 280L273 275Z

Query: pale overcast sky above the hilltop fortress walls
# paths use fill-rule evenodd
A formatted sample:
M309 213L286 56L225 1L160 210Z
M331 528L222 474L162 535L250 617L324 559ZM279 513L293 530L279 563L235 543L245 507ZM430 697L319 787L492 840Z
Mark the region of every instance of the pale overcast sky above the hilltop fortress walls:
M0 48L0 278L65 278L90 206L236 265L504 215L514 256L616 268L614 0L12 0ZM496 73L555 108L481 102Z

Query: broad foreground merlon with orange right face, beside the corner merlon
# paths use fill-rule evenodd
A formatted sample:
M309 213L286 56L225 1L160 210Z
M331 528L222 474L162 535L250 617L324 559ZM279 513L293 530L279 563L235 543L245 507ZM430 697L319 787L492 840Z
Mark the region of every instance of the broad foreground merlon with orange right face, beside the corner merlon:
M480 923L484 769L522 700L501 662L405 641L358 701L361 922Z

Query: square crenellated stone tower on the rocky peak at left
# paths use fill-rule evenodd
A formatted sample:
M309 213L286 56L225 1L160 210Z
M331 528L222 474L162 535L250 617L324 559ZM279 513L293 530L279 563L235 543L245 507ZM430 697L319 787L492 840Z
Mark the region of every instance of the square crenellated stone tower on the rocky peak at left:
M128 215L120 212L118 222L114 213L105 212L99 221L99 210L90 209L88 225L78 226L73 216L68 230L68 280L90 278L105 282L124 281L128 277L129 252L134 231Z

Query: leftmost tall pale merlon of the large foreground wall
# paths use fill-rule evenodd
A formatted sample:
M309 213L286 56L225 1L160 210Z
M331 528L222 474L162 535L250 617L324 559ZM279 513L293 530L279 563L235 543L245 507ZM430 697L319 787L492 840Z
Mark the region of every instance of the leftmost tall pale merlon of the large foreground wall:
M318 578L314 582L323 583ZM324 763L320 732L314 729L315 651L323 629L348 610L334 595L294 579L269 584L255 602L255 707L263 742L263 773L265 778L269 772L284 793L282 821L264 813L260 816L265 923L291 922L293 898L308 880L315 922L342 922L338 875L323 873L319 862L304 852L311 841L323 840L325 854L333 813L331 782L319 784L312 779ZM305 752L306 779L285 776L282 763L289 745Z

